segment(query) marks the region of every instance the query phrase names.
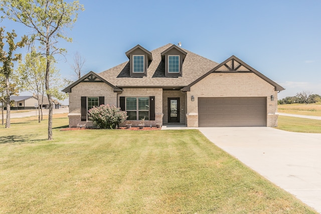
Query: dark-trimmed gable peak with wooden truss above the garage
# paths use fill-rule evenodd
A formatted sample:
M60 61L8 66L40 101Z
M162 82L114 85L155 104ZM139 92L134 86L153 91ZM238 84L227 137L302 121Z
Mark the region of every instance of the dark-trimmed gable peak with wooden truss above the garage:
M212 70L210 70L209 72L207 72L206 74L204 74L202 77L195 80L190 85L184 87L182 91L191 91L191 87L193 85L195 85L196 83L198 83L199 81L201 81L202 79L210 75L211 73L254 73L255 75L259 76L260 78L268 82L269 84L273 85L275 91L284 90L282 86L270 80L269 78L267 78L266 76L264 76L263 74L261 74L260 72L258 72L257 70L255 70L254 68L247 65L245 62L243 62L242 60L238 59L233 55L227 60L225 60L224 62L222 62L221 64L219 64L218 66L216 66L215 68L213 68Z

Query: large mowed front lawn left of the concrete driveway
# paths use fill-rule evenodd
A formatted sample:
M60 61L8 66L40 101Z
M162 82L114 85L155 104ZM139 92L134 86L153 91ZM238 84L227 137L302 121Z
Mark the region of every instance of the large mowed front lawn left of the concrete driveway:
M47 141L47 120L12 122L1 213L316 213L198 130L60 131L55 118Z

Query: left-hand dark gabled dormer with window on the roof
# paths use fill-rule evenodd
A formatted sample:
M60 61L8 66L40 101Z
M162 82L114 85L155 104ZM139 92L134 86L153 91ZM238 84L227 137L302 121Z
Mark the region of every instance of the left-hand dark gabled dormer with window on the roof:
M130 63L130 77L147 76L148 64L152 61L151 53L140 45L136 45L125 54Z

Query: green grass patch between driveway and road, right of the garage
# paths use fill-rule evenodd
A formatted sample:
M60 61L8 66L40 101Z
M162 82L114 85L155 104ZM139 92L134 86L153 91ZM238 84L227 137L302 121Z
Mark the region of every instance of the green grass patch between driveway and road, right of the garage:
M277 129L304 133L321 133L321 120L278 116Z

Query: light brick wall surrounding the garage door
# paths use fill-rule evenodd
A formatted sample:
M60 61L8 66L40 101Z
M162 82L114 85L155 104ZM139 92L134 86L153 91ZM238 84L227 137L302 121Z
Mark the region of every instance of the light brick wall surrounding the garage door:
M192 95L194 102L189 99ZM212 73L192 86L187 92L188 127L198 126L198 97L266 97L267 126L277 125L277 92L253 73Z

